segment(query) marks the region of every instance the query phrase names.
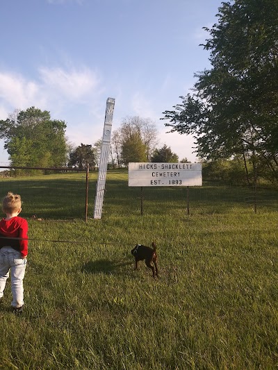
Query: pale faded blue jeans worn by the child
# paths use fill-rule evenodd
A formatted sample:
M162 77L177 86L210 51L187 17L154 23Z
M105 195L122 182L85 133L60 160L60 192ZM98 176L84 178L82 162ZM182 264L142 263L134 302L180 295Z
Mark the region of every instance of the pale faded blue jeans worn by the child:
M23 301L23 279L26 269L26 258L22 258L20 252L10 246L3 246L0 249L0 298L6 287L6 281L11 277L11 286L13 294L12 306L19 308L24 305Z

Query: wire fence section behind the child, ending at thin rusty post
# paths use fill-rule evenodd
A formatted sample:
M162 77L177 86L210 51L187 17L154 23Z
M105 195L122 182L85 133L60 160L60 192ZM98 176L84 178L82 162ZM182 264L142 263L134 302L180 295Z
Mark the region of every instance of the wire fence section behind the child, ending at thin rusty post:
M88 168L6 166L0 169L6 169L0 173L1 196L7 192L20 194L25 217L87 219ZM15 170L25 172L16 176Z

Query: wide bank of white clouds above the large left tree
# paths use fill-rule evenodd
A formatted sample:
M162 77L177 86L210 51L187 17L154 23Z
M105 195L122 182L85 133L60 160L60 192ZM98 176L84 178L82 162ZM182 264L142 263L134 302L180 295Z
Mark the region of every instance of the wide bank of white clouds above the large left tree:
M74 112L80 104L88 106L90 115L95 116L99 109L99 97L104 87L100 79L90 69L41 68L36 81L28 80L20 74L0 71L0 115L7 118L7 112L24 110L31 106L49 110L51 115L60 117ZM85 112L82 109L79 112ZM3 117L6 115L6 117ZM70 116L71 117L71 116Z

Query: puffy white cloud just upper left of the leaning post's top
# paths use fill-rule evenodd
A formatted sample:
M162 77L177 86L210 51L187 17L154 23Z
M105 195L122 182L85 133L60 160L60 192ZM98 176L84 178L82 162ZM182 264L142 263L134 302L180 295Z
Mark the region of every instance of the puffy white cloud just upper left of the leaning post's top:
M96 90L99 78L89 69L65 71L62 68L40 68L40 75L45 86L67 99L79 100Z

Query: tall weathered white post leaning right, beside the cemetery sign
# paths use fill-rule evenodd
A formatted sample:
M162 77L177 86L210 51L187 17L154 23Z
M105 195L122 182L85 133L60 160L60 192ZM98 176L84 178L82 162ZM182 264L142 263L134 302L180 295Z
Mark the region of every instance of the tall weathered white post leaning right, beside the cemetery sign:
M104 119L104 134L99 159L99 176L97 178L97 194L95 196L94 219L101 219L102 205L104 203L104 192L106 182L106 171L108 164L109 147L111 141L111 130L115 99L108 98L106 101L106 112Z

